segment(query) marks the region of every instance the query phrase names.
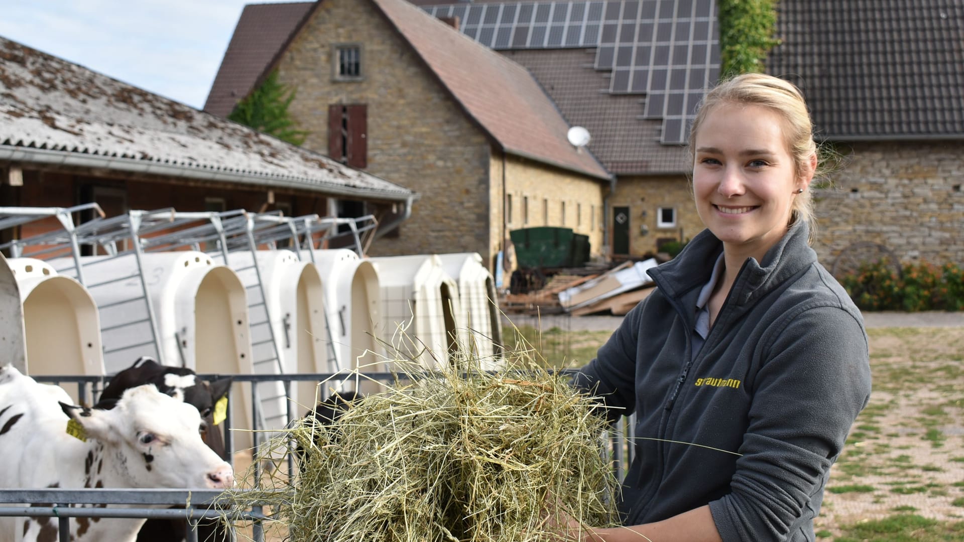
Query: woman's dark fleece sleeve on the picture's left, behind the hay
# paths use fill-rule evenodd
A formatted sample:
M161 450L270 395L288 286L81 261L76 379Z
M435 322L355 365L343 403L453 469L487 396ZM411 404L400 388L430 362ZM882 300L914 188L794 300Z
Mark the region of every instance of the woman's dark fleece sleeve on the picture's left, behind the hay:
M597 351L596 359L580 368L573 378L577 388L603 400L605 415L610 421L629 416L635 408L639 326L649 299L643 300L627 313L619 328Z

